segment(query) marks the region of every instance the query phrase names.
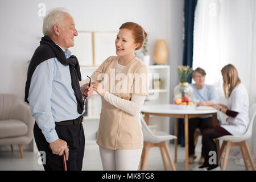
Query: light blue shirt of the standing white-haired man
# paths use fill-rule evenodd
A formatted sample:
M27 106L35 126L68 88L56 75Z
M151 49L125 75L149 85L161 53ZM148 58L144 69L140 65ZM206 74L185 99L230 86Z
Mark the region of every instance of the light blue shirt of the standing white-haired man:
M63 51L66 58L71 56L68 49ZM81 115L77 112L69 66L61 64L56 57L43 61L36 67L31 78L28 101L31 115L48 143L59 138L55 122L76 119Z

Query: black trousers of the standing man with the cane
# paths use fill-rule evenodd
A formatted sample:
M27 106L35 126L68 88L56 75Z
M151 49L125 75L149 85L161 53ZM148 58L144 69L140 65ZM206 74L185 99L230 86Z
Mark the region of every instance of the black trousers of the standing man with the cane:
M69 146L69 156L67 161L68 171L81 171L85 146L85 136L82 124L56 126L55 130L59 138L67 142ZM49 148L49 143L46 141L42 130L39 129L36 122L34 125L34 137L38 151L44 151L46 154L46 164L44 164L43 161L44 170L63 171L62 156L52 154L52 151Z

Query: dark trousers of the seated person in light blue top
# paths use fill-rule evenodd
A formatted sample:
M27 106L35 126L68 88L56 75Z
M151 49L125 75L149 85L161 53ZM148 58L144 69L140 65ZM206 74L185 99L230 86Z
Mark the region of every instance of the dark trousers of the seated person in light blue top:
M195 154L194 133L197 127L199 127L201 133L203 133L203 130L205 129L213 129L212 117L188 119L188 155ZM181 125L181 133L184 137L184 122ZM204 153L203 145L201 149L201 155L204 156Z

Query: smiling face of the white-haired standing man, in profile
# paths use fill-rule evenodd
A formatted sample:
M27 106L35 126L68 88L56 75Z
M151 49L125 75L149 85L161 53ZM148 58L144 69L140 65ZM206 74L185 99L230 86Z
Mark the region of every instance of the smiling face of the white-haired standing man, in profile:
M60 30L59 39L61 40L61 47L64 49L67 49L69 47L73 47L74 44L74 37L77 36L77 30L75 28L75 23L73 18L65 14L63 16L63 23L64 28L63 30Z

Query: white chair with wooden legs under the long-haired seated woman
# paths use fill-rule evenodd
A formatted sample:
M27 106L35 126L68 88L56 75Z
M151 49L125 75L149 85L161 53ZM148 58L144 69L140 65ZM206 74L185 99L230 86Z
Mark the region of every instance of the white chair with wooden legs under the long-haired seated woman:
M249 110L249 118L250 118L249 127L248 127L246 133L243 134L242 136L226 135L226 136L223 136L223 137L216 138L218 140L223 140L221 150L220 150L220 156L219 156L219 159L218 159L219 166L221 166L221 156L222 156L222 154L225 150L225 147L226 147L226 152L225 152L224 162L223 162L223 166L222 166L222 171L226 170L226 163L228 162L229 150L230 150L230 147L233 147L233 146L240 146L241 147L243 161L245 163L246 170L248 170L247 158L246 158L246 154L247 154L247 156L249 158L249 161L250 161L250 164L251 164L251 168L253 169L253 171L255 171L253 158L251 157L251 152L250 152L248 144L247 144L247 140L251 138L251 133L253 131L253 122L254 122L255 115L256 115L256 104L253 104L250 107L250 110Z

